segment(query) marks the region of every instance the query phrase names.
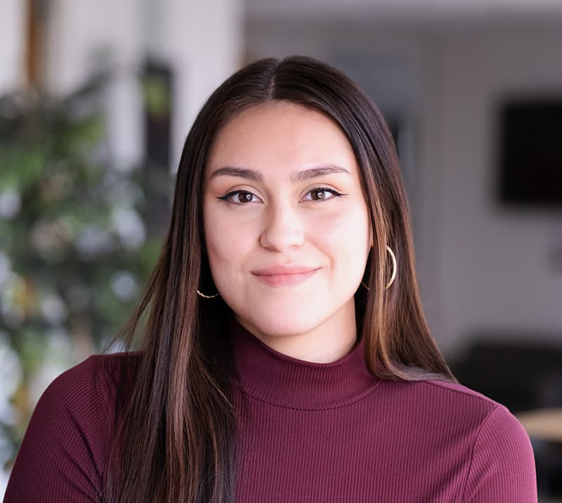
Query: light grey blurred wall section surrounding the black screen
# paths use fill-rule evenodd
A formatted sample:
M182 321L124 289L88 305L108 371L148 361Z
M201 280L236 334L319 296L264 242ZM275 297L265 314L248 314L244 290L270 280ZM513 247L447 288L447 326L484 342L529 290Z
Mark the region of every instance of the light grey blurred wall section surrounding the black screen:
M443 46L438 280L451 343L481 328L550 332L562 344L562 271L550 258L562 211L508 211L492 193L495 102L514 91L561 95L561 48L562 25L453 32Z

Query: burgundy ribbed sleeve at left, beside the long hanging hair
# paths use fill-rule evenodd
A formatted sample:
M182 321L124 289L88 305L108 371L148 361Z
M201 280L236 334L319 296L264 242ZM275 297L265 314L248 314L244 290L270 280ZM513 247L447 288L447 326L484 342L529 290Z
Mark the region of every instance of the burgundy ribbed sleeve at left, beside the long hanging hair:
M100 501L110 403L91 356L39 398L8 479L4 503Z

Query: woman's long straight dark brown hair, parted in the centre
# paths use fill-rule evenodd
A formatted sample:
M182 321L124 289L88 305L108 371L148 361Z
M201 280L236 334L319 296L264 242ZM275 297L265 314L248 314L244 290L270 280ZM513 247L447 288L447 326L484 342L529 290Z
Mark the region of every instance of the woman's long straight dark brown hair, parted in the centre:
M396 147L381 113L343 73L304 56L267 58L235 72L204 104L183 147L169 233L129 322L113 388L115 443L106 502L233 502L236 414L231 400L230 308L214 293L205 256L202 181L218 131L253 105L284 100L323 112L350 141L374 245L355 294L365 359L383 379L456 381L426 324L415 274L410 209ZM398 270L388 289L392 263ZM107 346L110 347L110 346ZM136 350L136 351L133 351ZM375 365L375 362L379 362ZM129 387L125 382L131 383Z

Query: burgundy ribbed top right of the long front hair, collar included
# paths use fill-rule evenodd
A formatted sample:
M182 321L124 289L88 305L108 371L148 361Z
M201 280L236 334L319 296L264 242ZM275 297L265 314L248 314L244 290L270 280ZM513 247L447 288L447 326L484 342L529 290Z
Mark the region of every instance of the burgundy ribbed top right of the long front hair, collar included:
M233 322L237 502L531 503L535 460L503 405L443 381L290 358Z

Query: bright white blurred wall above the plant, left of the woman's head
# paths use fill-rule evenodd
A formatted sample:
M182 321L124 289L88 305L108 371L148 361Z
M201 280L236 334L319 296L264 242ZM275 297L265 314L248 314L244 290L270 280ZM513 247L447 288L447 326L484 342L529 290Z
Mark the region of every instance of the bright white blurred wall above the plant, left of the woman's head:
M197 111L240 65L242 30L242 0L52 0L46 82L57 93L74 89L91 71L96 51L109 49L117 70L107 107L111 147L126 166L143 149L136 72L148 54L170 63L174 170Z

